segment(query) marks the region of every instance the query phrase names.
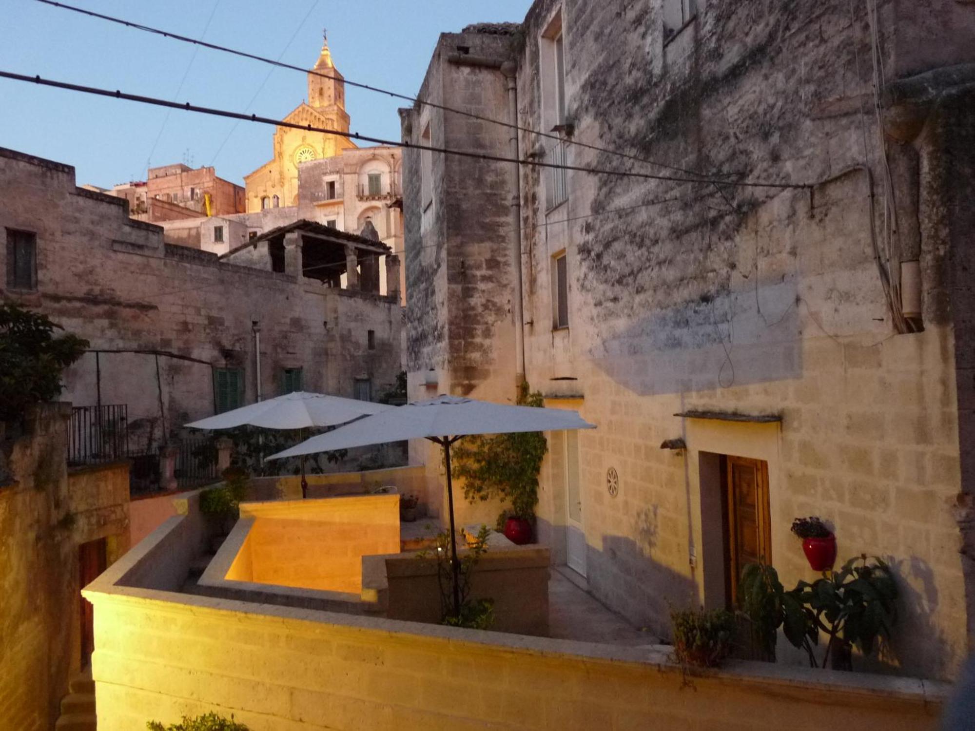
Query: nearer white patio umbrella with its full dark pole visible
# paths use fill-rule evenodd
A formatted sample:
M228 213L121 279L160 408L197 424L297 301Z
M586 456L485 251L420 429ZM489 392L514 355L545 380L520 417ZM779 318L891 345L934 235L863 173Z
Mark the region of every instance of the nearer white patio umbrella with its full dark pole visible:
M426 439L444 447L447 467L447 499L450 511L450 563L453 571L453 611L460 613L460 588L457 545L454 540L453 484L450 476L450 445L463 437L474 434L513 434L516 432L557 432L568 429L595 429L594 424L582 419L577 411L535 406L511 406L465 399L455 396L438 396L436 399L418 401L388 411L367 416L359 421L339 427L328 434L292 446L272 454L267 459L284 459L302 454L316 454L333 449L347 449L383 442Z

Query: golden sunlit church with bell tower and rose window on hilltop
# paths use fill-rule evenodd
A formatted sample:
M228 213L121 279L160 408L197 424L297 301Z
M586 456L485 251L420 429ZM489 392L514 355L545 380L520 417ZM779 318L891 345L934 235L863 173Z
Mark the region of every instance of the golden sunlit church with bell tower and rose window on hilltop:
M328 41L312 72L308 74L308 98L297 106L285 122L349 132L349 115L345 111L345 82L331 60ZM356 145L348 137L304 132L279 127L274 133L274 158L249 175L247 212L281 206L297 206L298 166L312 160L334 157Z

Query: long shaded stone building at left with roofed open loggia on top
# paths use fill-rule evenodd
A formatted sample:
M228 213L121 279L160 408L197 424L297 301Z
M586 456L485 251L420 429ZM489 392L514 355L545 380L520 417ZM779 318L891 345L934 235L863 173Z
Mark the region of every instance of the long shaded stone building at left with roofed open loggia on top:
M91 341L63 398L128 404L131 445L283 389L365 398L396 382L398 292L335 287L333 267L317 266L323 249L342 267L347 248L385 254L375 241L328 229L305 245L299 231L274 240L266 265L220 260L166 244L124 200L76 187L73 168L3 149L0 200L0 297ZM364 262L372 279L375 261Z

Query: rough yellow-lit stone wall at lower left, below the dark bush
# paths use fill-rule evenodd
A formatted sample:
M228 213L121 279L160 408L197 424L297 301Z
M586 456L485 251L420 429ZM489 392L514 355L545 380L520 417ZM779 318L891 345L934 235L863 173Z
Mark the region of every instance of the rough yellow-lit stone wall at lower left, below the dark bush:
M65 468L68 404L38 406L0 432L0 722L48 731L80 663L78 546L129 547L129 466ZM20 436L14 437L14 432Z

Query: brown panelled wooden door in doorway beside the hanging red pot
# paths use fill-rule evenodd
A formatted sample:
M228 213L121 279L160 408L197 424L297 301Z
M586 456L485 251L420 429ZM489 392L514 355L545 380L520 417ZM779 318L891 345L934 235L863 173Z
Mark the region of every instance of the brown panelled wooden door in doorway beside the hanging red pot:
M741 570L749 563L771 563L768 516L768 463L744 457L725 458L728 598L737 603Z

